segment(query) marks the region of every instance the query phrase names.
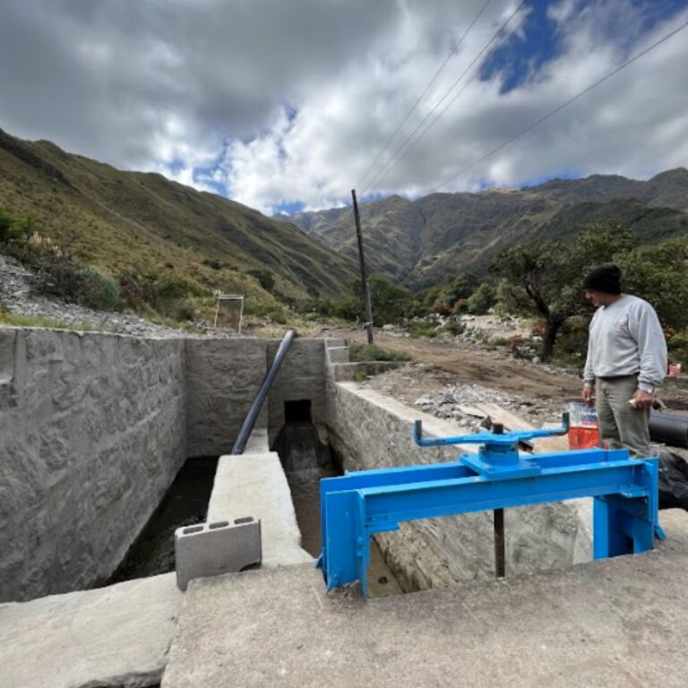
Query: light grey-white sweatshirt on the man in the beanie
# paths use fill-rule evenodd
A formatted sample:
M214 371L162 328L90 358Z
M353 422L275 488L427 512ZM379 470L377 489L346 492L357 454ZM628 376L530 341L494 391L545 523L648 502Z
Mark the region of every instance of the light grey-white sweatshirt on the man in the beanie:
M588 358L583 379L638 374L638 389L652 391L667 374L667 341L655 309L624 294L601 305L590 323Z

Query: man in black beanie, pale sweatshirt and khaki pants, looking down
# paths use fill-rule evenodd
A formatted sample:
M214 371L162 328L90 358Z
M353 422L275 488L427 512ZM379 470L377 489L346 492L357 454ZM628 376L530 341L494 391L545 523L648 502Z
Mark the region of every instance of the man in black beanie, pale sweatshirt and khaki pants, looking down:
M603 444L625 447L633 459L647 457L649 411L667 373L667 342L657 313L647 301L621 293L615 265L590 272L583 289L598 306L590 323L583 400L595 402Z

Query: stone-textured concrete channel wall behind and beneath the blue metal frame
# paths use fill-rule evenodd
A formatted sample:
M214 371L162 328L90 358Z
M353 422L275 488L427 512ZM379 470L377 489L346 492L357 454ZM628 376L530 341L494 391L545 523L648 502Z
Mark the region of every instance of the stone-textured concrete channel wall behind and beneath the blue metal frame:
M458 428L356 383L329 382L327 425L344 469L377 469L456 460L460 448L420 448L411 426L429 435ZM469 451L475 451L473 447ZM504 514L507 575L566 567L590 559L589 500L551 503ZM430 589L495 577L492 512L403 523L375 536L402 588Z

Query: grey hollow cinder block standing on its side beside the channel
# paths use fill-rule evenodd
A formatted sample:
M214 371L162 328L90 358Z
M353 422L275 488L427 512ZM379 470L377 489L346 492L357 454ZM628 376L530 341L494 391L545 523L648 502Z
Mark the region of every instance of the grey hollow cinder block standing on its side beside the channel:
M193 578L219 576L261 563L261 521L246 516L177 528L175 559L180 590Z

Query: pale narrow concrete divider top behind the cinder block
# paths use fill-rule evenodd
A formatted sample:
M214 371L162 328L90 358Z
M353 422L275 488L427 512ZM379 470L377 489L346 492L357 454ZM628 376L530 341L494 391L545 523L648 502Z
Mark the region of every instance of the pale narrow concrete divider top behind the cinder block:
M208 522L246 516L261 521L262 566L313 562L301 548L287 477L275 452L219 458Z

